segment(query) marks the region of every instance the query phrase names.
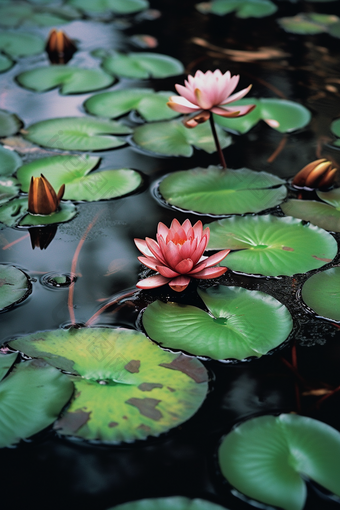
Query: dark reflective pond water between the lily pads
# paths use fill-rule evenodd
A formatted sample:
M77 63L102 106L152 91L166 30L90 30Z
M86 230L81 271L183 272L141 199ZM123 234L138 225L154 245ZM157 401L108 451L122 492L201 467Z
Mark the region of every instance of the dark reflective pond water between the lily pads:
M79 51L71 63L97 67L99 61L90 56L91 50L140 51L131 42L131 36L152 35L159 42L155 51L178 58L188 73L197 69L220 68L223 72L229 69L232 74L241 75L239 88L253 83L250 95L290 99L312 112L311 123L292 134L283 135L259 123L248 134L233 136L233 144L224 151L229 167L246 166L289 178L319 157L340 163L339 149L330 145L333 137L329 129L331 121L340 115L339 39L327 34L288 34L276 21L302 11L340 15L339 2L278 0L276 14L246 20L233 14L221 18L202 15L191 0L150 3L153 9L161 12L159 18L146 19L139 14L107 22L83 19L59 26L79 41ZM49 32L48 28L30 30L45 37ZM242 54L238 60L231 60L225 53L231 49L256 52L260 47L275 48L282 56L245 62ZM85 114L83 102L92 95L61 96L57 90L38 94L16 84L17 74L46 59L46 55L21 59L10 71L0 75L0 108L16 113L26 126L52 117L82 116ZM120 80L108 90L141 86L171 91L174 84L182 83L183 79L184 76L164 80ZM126 122L133 125L131 117L127 117ZM17 142L12 138L7 145L16 148ZM280 152L278 147L282 149ZM24 147L20 152L25 161L51 153L53 151L36 147L33 150ZM169 225L173 217L180 221L186 217L196 220L194 215L173 211L158 203L154 198L155 183L175 170L218 163L216 154L203 151L195 151L189 159L166 159L142 154L131 146L96 155L103 158L103 169L140 170L145 178L144 187L139 193L119 200L80 204L78 216L58 226L46 250L32 249L30 238L23 237L27 230L0 231L1 261L22 268L33 284L31 296L22 305L1 315L3 342L16 335L70 323L68 289L48 288L41 279L46 273L70 272L78 242L98 213L77 266L79 275L74 296L77 322L85 323L108 298L133 290L141 271L133 238L154 237L159 221ZM211 218L202 220L209 223ZM340 236L335 237L339 242ZM4 249L16 240L17 243ZM339 255L335 262L340 262ZM16 448L1 450L1 485L6 498L3 508L104 510L132 499L184 495L208 499L230 510L250 509L250 504L238 497L218 473L215 455L220 438L235 423L252 416L298 410L296 378L282 361L284 358L291 362L294 342L299 373L311 388L325 385L336 388L340 384L340 330L330 321L315 318L297 300L306 278L306 275L298 275L266 279L227 272L221 282L263 290L288 306L295 325L290 342L272 355L253 362L231 365L205 361L211 376L206 402L189 422L157 439L108 447L59 438L52 430L47 430ZM160 292L166 297L170 291ZM194 287L192 292L193 296ZM153 291L126 299L124 306L108 308L97 325L135 327L141 309L157 295L159 291ZM180 299L192 299L192 296L189 288L187 297ZM308 391L303 384L299 385L299 390L301 414L340 430L340 392L317 407L320 397L303 395ZM306 509L330 510L339 506L339 501L325 498L319 489L309 486Z

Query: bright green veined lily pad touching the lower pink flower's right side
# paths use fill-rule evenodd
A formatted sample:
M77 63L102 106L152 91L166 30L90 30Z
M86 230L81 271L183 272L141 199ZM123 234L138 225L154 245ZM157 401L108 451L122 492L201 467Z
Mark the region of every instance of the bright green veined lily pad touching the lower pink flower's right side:
M220 265L242 273L291 276L318 269L337 253L331 234L290 216L236 216L214 221L209 228L207 249L239 250Z

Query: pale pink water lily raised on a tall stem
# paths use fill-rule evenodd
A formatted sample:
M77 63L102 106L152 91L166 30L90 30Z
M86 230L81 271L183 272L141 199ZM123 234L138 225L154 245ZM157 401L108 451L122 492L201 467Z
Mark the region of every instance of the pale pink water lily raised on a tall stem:
M184 121L186 127L196 127L210 118L211 113L222 117L242 117L251 112L256 105L229 106L230 103L244 97L251 85L236 94L230 95L236 88L240 77L231 76L230 71L222 74L216 71L197 71L188 76L185 86L176 84L179 96L171 96L167 105L178 113L189 114Z

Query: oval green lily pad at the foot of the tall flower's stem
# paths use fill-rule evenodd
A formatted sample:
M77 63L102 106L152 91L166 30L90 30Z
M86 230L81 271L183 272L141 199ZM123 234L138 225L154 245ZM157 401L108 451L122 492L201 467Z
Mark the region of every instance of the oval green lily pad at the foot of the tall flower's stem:
M161 181L159 190L169 204L181 209L202 214L244 214L280 204L287 195L283 184L282 179L266 172L209 166L174 172Z

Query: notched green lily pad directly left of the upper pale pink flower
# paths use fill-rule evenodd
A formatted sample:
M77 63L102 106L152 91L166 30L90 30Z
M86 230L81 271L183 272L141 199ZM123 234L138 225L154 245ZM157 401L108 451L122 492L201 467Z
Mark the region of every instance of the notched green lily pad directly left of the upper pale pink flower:
M85 101L89 113L115 119L136 110L147 122L173 119L178 113L167 106L172 92L152 89L123 89L96 94Z

